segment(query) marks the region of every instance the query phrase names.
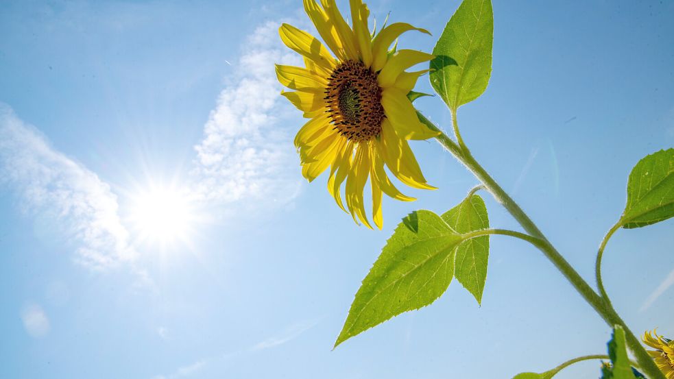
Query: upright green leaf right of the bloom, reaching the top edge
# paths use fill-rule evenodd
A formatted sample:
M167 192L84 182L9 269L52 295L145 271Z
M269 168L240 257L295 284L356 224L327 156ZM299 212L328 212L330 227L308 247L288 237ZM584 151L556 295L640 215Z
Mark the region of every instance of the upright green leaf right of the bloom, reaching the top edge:
M437 40L429 78L450 109L484 93L492 73L494 15L490 0L464 0Z

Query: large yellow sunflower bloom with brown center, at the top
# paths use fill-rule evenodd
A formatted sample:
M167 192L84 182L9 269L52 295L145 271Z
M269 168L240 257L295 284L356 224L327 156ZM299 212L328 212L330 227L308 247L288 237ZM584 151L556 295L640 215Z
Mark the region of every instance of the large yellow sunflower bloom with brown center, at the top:
M400 182L413 188L435 189L426 183L407 140L425 140L439 132L420 123L407 95L428 70L405 72L433 56L421 51L389 50L404 32L424 29L393 23L370 33L370 11L361 0L350 0L352 27L341 16L335 0L304 0L304 10L323 43L292 25L282 24L281 40L304 58L304 67L276 65L279 82L293 92L282 92L310 119L295 138L302 175L313 181L330 168L328 191L354 221L372 228L365 215L363 190L370 179L372 219L381 229L382 193L401 201L403 195L384 166ZM397 44L396 44L397 45ZM346 180L346 208L340 189Z

